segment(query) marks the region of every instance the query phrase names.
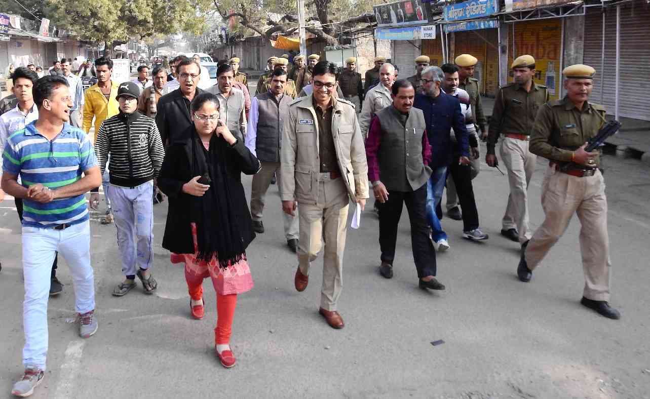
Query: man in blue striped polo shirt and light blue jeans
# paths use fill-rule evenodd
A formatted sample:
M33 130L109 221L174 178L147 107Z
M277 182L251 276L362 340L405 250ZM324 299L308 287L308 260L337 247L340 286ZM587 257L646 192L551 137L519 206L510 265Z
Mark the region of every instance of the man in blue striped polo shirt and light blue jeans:
M101 173L88 136L69 123L68 81L45 76L32 92L38 120L10 135L3 152L2 187L23 199L25 374L12 389L17 396L32 394L44 376L49 277L57 251L70 266L74 281L79 335L90 337L98 328L84 194L99 187Z

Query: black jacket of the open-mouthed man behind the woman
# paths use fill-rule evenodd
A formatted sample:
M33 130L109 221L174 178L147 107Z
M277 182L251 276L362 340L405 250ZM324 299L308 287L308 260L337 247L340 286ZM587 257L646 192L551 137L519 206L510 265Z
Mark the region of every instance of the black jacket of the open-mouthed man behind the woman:
M194 97L201 94L203 90L196 88ZM167 147L174 142L181 133L188 127L194 126L190 116L190 102L183 97L183 92L177 88L169 94L165 94L158 100L156 105L156 125L161 133L162 144Z

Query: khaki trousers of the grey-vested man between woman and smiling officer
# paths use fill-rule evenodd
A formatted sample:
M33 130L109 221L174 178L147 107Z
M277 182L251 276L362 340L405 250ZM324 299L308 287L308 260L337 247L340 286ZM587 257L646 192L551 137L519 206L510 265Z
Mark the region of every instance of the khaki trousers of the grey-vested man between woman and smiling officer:
M264 211L266 191L271 184L273 175L276 175L278 187L280 186L280 162L260 162L262 168L253 175L253 183L250 190L250 214L255 220L259 222L262 220L262 212ZM298 216L291 216L282 212L284 220L285 238L291 240L298 238Z

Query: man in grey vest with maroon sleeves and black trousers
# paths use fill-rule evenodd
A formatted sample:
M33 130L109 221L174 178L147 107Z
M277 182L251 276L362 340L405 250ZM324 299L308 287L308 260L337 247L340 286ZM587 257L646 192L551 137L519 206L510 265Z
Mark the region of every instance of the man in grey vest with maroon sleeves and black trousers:
M377 112L366 140L368 179L379 208L380 274L393 277L397 225L406 203L411 248L421 289L444 290L435 279L435 250L426 220L426 182L431 175L431 146L422 110L413 108L415 88L406 79L391 88L393 105Z

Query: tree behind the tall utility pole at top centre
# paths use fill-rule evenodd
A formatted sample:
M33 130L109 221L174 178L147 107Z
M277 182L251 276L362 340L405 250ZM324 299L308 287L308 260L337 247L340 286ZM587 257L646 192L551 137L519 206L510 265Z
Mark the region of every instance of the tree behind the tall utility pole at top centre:
M285 33L298 26L295 0L213 0L214 8L224 20L237 18L242 27L264 38ZM359 23L374 23L372 5L382 0L307 0L305 1L305 30L338 44L339 32L348 31ZM274 19L273 16L281 16ZM332 19L331 16L335 16Z

